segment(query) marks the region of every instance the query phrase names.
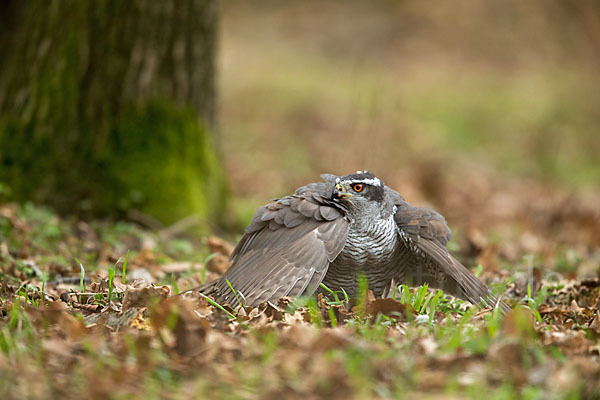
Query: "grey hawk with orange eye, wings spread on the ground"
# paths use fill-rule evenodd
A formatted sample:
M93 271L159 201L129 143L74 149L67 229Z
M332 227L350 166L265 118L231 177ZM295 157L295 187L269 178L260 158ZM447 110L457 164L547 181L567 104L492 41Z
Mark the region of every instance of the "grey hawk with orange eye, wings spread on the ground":
M378 298L393 283L427 283L479 306L509 309L448 252L451 232L440 214L408 204L369 171L321 178L258 208L231 267L198 290L232 306L327 295L321 283L352 298L362 274Z

